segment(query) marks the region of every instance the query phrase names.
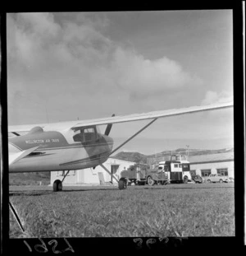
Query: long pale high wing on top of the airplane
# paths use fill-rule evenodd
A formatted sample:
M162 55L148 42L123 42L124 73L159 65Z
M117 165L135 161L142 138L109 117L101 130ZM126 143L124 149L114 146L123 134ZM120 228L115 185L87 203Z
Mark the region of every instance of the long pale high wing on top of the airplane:
M69 128L80 128L80 127L87 127L91 125L102 125L108 123L125 123L125 122L133 122L133 121L140 121L145 119L159 119L174 115L180 114L191 114L201 111L207 111L212 109L225 109L233 107L233 103L218 103L212 105L202 105L202 106L192 106L188 108L182 109L165 109L160 111L153 111L148 113L142 114L127 114L115 117L108 117L103 119L89 119L89 120L77 120L77 121L70 121L70 122L61 122L61 123L39 123L39 124L30 124L30 125L19 125L19 126L9 126L8 132L23 132L29 131L34 126L40 126L43 128L44 131L51 131L57 130L62 131Z

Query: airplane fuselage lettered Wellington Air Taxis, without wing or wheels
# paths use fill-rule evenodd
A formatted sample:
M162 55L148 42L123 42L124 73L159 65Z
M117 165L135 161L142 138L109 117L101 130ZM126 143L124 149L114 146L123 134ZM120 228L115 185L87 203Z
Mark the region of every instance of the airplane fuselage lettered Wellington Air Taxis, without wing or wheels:
M9 165L12 173L95 167L107 161L113 147L112 138L98 133L96 126L67 133L36 127L26 135L9 138L8 143L10 157L36 147Z

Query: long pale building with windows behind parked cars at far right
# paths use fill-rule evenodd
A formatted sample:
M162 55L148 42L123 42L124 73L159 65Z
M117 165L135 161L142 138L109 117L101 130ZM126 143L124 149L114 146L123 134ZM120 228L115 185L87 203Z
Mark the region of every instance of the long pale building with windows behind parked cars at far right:
M202 177L220 174L234 178L234 152L189 156L190 172Z

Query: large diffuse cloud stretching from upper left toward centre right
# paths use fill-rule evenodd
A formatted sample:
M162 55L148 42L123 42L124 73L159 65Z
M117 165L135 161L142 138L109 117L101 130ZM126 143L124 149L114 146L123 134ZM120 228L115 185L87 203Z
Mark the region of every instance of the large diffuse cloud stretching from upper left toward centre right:
M73 77L76 84L77 77L77 83L83 85L84 81L89 91L104 88L142 97L201 85L198 77L170 58L151 60L116 45L103 34L109 24L107 18L97 17L80 14L74 21L57 22L52 13L8 15L7 54L11 64L27 68L32 72L29 76L37 80L45 73L68 82Z

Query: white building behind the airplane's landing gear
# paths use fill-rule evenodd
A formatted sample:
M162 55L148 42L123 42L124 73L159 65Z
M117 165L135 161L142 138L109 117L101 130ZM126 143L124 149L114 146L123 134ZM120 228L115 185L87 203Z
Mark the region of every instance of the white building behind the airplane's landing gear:
M119 160L113 157L109 157L103 165L111 172L111 175L103 169L102 166L98 165L94 170L88 168L84 170L71 170L66 175L66 170L52 171L51 172L51 184L56 179L62 180L64 175L66 178L62 182L63 185L75 185L75 184L116 184L116 179L121 179L121 171L127 170L130 165L134 165L134 162ZM112 175L115 175L116 179L113 179Z

